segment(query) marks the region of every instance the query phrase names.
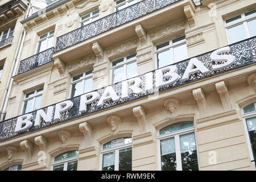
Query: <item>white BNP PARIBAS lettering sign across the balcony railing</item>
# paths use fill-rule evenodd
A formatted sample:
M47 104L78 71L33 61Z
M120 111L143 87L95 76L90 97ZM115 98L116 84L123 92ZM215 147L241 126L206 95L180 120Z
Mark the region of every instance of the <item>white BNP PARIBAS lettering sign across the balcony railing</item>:
M34 113L20 115L16 119L14 133L29 131L31 127L41 127L42 122L47 125L80 117L162 90L171 89L189 81L214 75L236 67L234 66L235 61L235 56L230 53L230 47L223 47L205 55L180 61L44 109L36 110Z

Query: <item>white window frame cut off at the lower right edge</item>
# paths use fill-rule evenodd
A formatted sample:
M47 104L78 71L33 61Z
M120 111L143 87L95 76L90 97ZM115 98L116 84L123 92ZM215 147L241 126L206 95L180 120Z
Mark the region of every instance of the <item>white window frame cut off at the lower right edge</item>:
M256 109L256 101L249 102L249 103L243 105L240 108L241 114L242 114L243 128L245 129L245 136L246 136L246 140L247 140L247 146L249 148L249 155L250 155L250 160L251 161L256 160L256 159L254 159L254 156L253 156L253 148L251 148L251 140L250 140L249 131L248 131L248 128L247 128L246 119L256 117L256 110L252 111L252 112L249 112L249 113L244 113L243 108L246 107L246 106L249 106L250 104L253 104L253 103L254 103L254 107ZM256 156L255 156L255 158L256 158ZM253 166L253 170L256 171L256 167L255 167L254 162L251 162L251 166Z

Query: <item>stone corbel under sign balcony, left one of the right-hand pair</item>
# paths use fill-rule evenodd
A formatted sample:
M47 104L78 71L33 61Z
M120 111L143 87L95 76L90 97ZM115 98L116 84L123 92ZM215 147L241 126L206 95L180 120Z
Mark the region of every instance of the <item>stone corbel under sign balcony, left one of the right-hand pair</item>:
M199 115L200 117L204 117L207 114L207 103L205 100L204 96L204 91L203 89L195 89L192 91L193 92L193 97L196 100L197 107L199 109Z

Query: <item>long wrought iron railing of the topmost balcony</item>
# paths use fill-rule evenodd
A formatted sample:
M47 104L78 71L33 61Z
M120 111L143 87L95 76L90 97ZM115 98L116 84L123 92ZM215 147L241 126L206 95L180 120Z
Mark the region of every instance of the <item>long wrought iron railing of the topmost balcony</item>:
M171 5L177 1L181 0L143 0L135 3L125 9L59 36L56 40L55 52Z

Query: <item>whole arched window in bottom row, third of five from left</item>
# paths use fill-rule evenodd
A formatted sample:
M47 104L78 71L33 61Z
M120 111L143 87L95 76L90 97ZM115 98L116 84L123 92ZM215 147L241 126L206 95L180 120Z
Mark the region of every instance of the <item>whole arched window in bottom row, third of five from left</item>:
M102 146L102 171L131 171L131 138L114 139Z

